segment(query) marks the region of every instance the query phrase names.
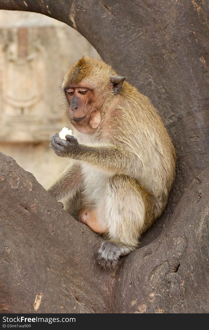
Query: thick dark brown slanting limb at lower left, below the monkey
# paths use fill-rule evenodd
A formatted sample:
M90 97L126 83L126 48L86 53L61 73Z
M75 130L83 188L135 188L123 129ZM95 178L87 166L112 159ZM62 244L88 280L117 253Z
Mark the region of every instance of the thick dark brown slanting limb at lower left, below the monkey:
M109 313L111 273L95 259L102 239L2 153L0 173L4 312L34 313L36 295L43 293L37 312Z

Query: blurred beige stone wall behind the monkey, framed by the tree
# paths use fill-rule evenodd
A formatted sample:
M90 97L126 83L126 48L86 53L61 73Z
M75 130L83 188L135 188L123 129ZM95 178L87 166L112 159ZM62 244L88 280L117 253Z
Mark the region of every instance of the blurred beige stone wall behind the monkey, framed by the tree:
M0 10L0 151L44 186L68 160L49 138L68 126L60 85L83 55L100 58L77 31L36 13Z

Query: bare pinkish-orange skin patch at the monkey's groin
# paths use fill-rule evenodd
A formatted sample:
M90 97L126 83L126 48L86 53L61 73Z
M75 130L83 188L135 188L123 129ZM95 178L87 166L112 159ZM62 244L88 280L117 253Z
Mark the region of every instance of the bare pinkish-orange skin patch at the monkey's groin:
M96 212L89 207L82 209L78 215L78 221L86 224L95 233L105 233L106 228L98 222Z

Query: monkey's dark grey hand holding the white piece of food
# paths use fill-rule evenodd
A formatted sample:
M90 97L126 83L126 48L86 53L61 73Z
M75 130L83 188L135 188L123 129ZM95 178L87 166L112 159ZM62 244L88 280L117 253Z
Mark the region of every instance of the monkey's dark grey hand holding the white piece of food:
M70 157L79 148L78 140L73 135L66 135L66 140L62 140L58 133L51 136L50 147L60 157Z

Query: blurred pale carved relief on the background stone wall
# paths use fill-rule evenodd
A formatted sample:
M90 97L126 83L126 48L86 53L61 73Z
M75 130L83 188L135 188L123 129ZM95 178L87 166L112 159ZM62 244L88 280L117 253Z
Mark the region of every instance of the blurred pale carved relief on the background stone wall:
M18 28L13 41L5 47L2 67L2 140L37 141L48 139L43 125L50 120L46 107L46 63L43 47L30 40L28 28ZM45 109L47 110L47 109ZM17 126L18 125L18 126ZM41 125L41 126L40 126ZM18 128L18 129L17 129ZM10 135L10 131L15 135Z

